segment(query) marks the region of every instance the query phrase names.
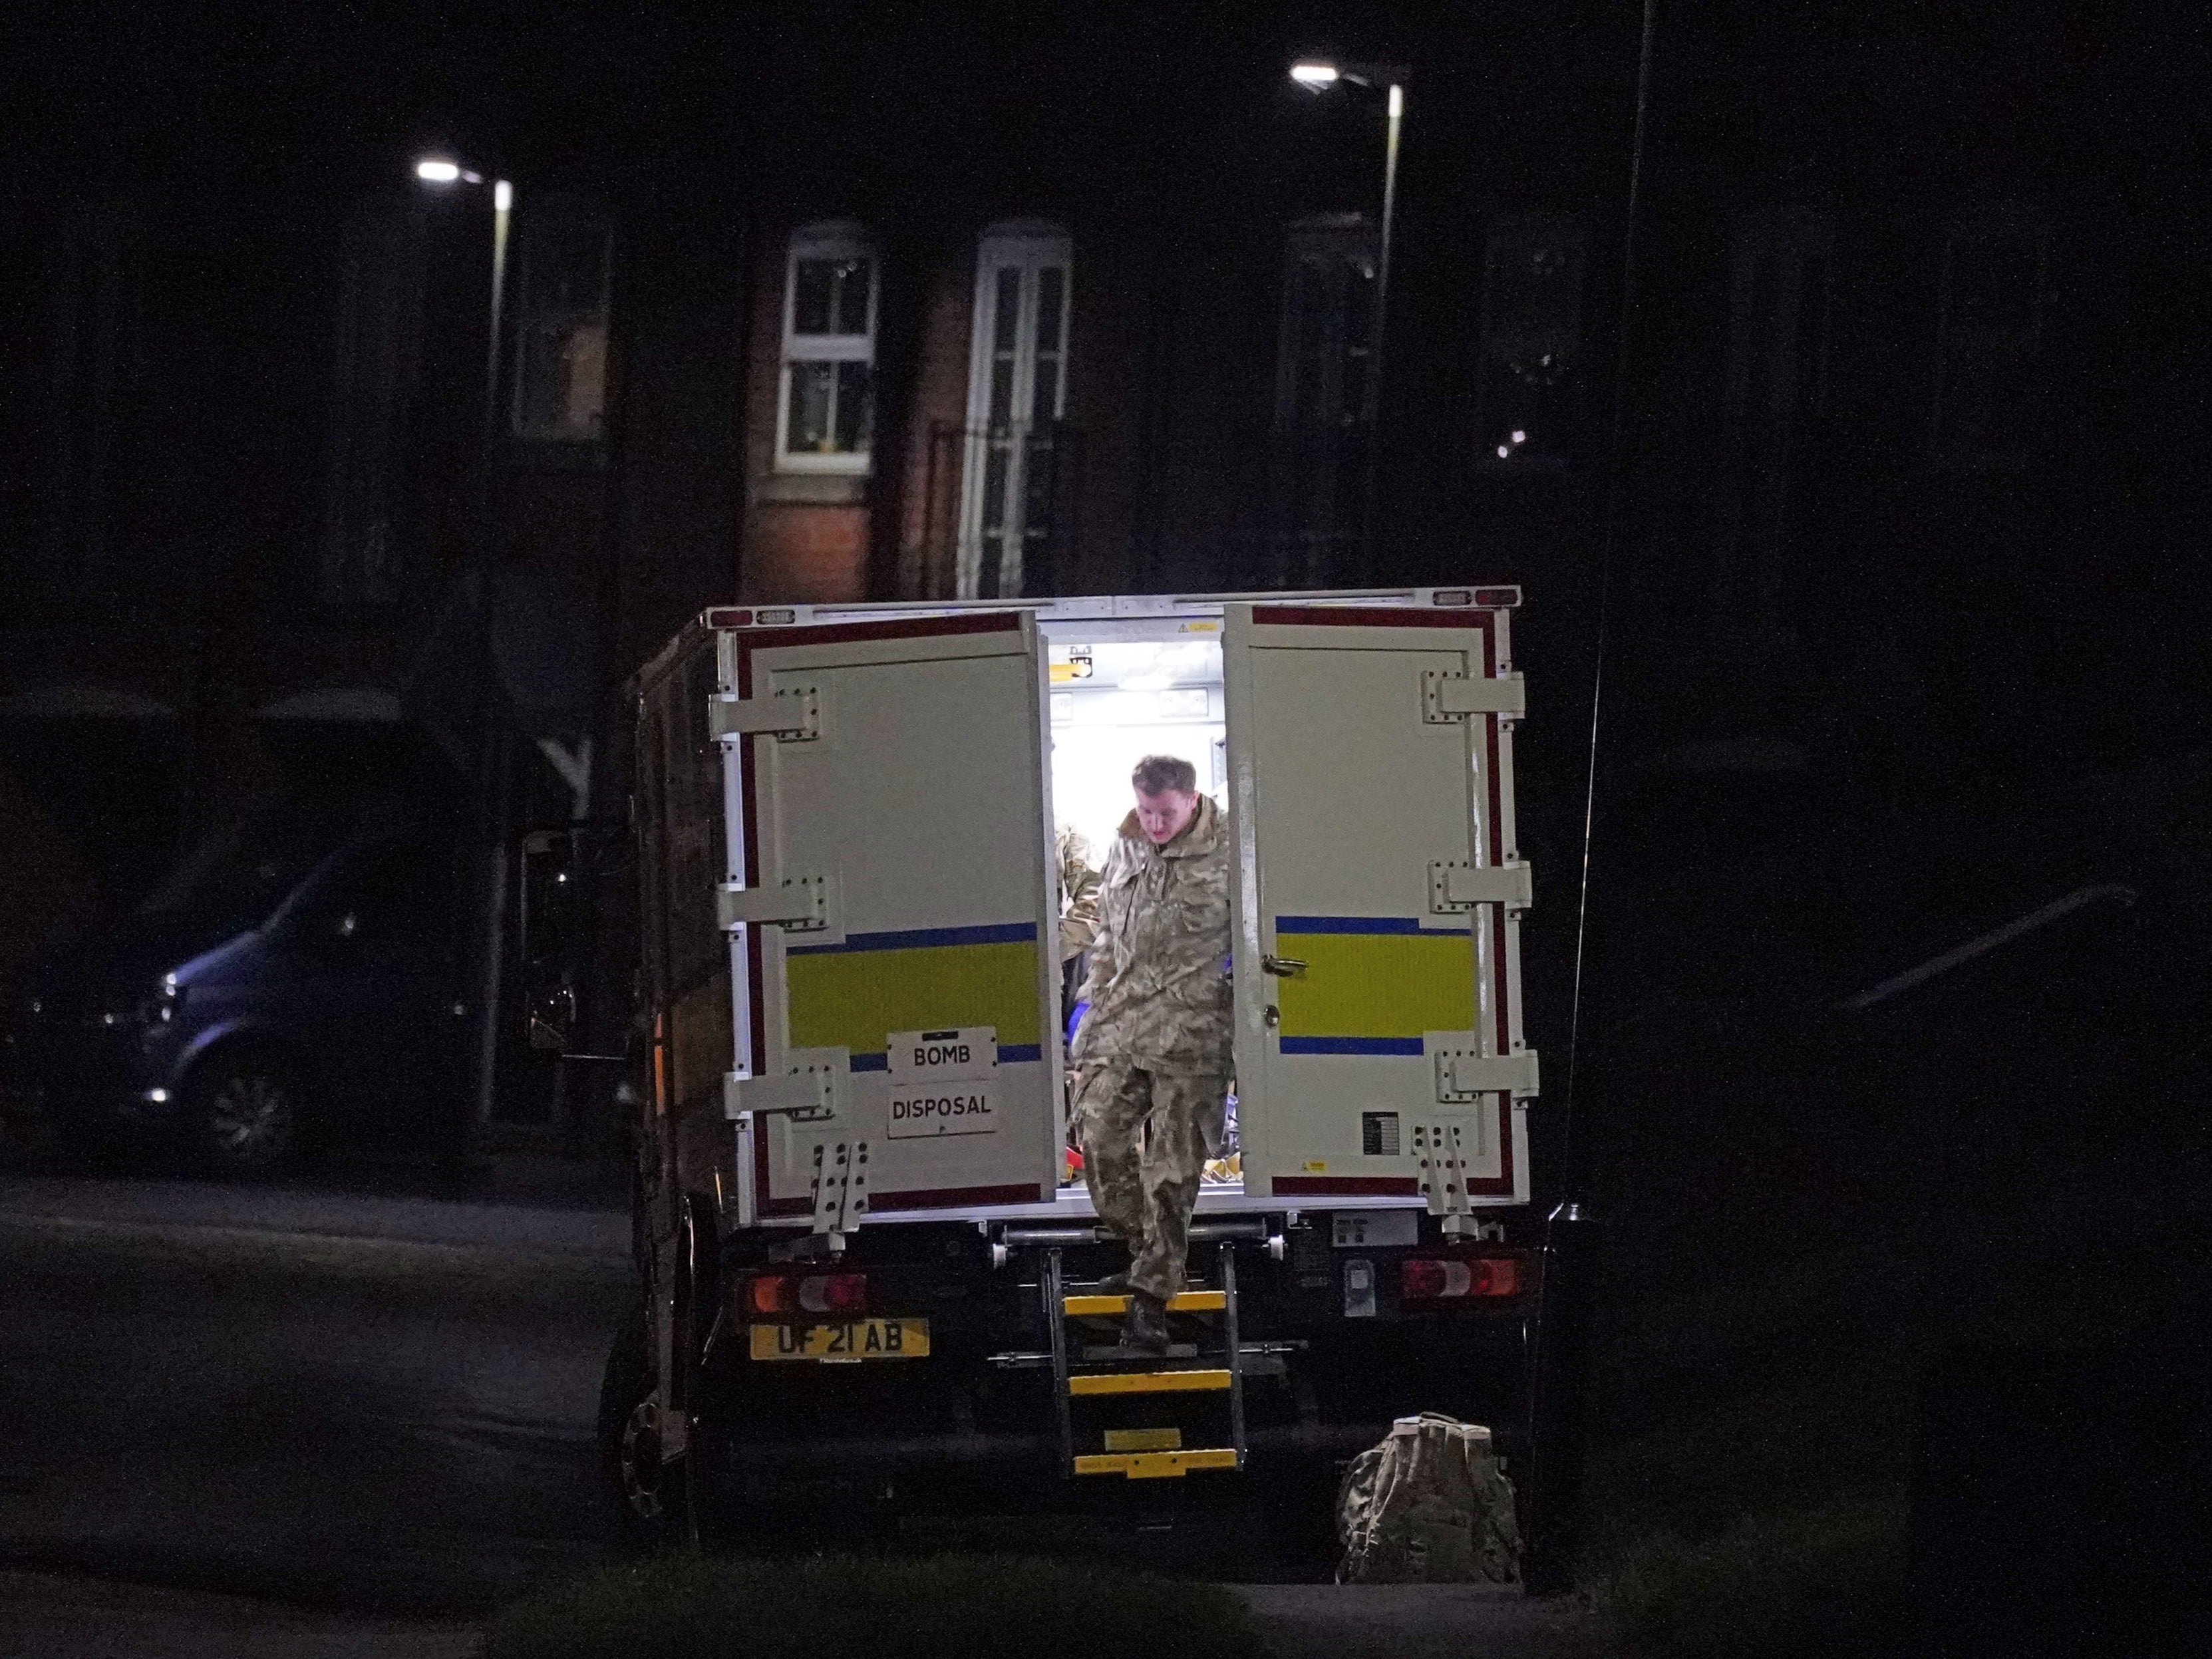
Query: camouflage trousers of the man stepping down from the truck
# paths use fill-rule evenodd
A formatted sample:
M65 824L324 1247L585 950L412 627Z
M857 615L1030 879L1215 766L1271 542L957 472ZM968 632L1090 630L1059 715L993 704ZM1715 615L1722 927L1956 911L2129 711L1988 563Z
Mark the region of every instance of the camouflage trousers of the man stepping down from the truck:
M1206 1159L1221 1146L1228 1077L1086 1066L1075 1091L1084 1183L1099 1219L1128 1239L1128 1281L1168 1298L1183 1287L1190 1210Z

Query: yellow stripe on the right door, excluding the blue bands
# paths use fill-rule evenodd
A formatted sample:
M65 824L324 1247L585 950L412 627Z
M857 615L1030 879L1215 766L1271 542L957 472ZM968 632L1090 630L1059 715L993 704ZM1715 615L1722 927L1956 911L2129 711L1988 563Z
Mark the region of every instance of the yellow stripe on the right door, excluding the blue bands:
M1473 933L1285 933L1305 971L1276 980L1285 1037L1418 1037L1475 1024Z

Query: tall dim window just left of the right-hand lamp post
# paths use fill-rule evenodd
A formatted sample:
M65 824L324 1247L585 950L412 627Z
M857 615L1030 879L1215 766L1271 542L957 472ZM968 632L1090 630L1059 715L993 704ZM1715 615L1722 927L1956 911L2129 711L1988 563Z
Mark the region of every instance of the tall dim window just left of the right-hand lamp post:
M1376 226L1298 219L1283 250L1274 372L1274 580L1327 586L1365 520L1367 374L1374 363Z

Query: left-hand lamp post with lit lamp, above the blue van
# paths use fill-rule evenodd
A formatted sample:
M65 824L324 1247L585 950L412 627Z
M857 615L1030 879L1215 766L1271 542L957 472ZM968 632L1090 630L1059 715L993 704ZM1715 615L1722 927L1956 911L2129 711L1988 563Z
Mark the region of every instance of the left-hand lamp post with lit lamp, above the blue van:
M425 157L416 177L431 186L482 186L484 175L458 161ZM500 442L500 310L507 294L507 219L515 206L515 186L491 179L491 327L484 343L484 434L476 493L476 597L484 617L484 657L478 670L480 796L491 825L489 867L484 872L484 978L478 987L476 1024L476 1124L491 1126L500 1082L500 991L507 975L507 816L511 812L513 761L509 732L498 717L498 668L491 659L491 544L495 531L498 442Z

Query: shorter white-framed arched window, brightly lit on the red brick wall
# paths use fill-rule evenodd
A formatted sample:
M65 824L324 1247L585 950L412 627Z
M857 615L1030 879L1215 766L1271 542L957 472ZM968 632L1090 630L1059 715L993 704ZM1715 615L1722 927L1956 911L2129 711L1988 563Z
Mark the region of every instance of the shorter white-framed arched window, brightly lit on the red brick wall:
M865 473L874 374L876 250L860 226L807 226L783 279L776 471Z

